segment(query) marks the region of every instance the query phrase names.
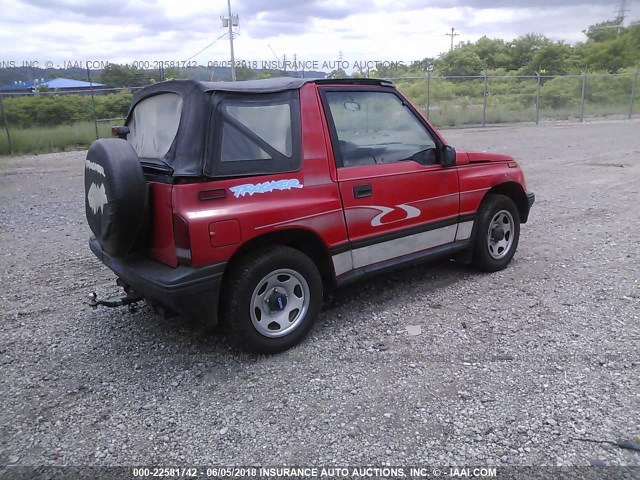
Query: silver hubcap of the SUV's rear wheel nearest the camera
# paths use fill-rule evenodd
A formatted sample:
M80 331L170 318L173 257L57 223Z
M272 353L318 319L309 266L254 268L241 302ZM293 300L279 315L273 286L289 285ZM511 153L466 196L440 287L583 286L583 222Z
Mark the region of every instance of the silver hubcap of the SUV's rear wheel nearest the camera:
M251 296L251 322L261 335L277 338L295 330L309 309L309 285L295 270L265 275Z

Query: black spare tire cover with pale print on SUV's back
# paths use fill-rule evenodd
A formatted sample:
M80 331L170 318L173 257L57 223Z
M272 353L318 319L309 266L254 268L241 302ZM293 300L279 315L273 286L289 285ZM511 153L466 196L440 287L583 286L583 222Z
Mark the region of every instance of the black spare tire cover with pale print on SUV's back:
M96 140L84 168L87 221L105 252L131 251L145 223L148 185L133 147L119 138Z

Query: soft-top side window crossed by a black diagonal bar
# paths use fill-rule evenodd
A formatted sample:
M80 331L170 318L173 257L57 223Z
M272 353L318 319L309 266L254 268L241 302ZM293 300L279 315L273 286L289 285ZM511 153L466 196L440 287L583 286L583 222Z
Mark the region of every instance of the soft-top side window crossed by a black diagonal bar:
M300 166L297 91L220 94L214 113L214 175L283 173Z

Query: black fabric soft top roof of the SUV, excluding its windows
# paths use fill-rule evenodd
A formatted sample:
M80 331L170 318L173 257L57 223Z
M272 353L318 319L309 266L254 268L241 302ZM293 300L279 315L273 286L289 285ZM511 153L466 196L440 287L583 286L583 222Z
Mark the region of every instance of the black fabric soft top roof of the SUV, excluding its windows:
M211 117L211 95L222 94L270 94L298 90L307 83L331 85L378 85L392 87L393 83L375 78L292 78L277 77L240 82L198 82L195 80L169 80L156 83L133 95L125 125L129 124L135 106L142 100L163 93L174 93L182 98L182 115L176 138L161 159L144 159L147 163L160 162L170 167L174 176L196 177L204 175L204 149Z

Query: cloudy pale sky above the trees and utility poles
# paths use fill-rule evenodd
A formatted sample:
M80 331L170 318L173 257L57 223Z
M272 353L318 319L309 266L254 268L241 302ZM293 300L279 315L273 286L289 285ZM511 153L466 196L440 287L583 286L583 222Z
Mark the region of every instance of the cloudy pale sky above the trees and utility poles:
M235 58L409 63L449 50L451 27L455 43L531 32L574 43L589 25L615 17L622 1L231 0L240 17ZM626 0L626 10L625 23L640 20L640 0ZM221 15L226 0L0 0L0 68L224 62L229 39Z

